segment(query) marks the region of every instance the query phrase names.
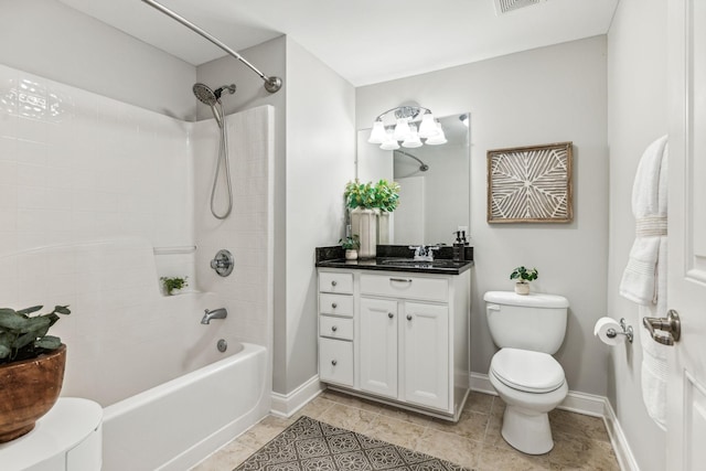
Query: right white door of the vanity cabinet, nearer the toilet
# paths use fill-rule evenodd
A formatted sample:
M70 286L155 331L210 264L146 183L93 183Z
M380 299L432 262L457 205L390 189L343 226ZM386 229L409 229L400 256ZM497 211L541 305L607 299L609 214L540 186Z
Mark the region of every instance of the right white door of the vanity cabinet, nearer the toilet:
M449 408L449 308L446 304L405 302L404 400L439 409Z

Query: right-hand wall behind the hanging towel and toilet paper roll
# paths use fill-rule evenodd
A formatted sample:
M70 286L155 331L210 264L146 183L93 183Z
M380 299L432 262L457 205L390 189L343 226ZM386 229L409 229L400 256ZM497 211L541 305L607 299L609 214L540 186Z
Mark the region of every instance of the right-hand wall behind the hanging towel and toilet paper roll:
M610 233L608 314L642 322L635 304L618 295L634 239L630 202L644 149L667 132L666 0L622 0L608 34L608 142L610 147ZM607 395L643 471L665 470L664 432L642 403L640 335L610 350Z

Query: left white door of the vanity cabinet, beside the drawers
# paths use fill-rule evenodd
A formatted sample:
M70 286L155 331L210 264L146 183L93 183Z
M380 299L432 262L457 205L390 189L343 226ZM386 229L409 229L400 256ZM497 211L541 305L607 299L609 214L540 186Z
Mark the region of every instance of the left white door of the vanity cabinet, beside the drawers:
M361 298L361 389L397 397L397 301Z

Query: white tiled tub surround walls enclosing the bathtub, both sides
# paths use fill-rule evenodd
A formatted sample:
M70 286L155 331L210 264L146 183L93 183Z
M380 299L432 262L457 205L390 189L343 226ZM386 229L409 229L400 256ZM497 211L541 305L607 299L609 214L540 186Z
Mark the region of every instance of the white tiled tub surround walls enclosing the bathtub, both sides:
M0 65L0 307L71 304L55 328L69 345L64 394L107 405L139 392L154 379L146 357L175 345L188 364L215 351L221 327L268 345L272 116L259 107L228 117L235 205L217 222L206 203L213 120L181 121ZM229 278L208 268L217 248L236 257ZM190 276L190 288L213 292L199 298L205 307L226 307L228 319L201 325L199 302L162 297L163 275ZM163 322L193 325L202 341L159 341Z

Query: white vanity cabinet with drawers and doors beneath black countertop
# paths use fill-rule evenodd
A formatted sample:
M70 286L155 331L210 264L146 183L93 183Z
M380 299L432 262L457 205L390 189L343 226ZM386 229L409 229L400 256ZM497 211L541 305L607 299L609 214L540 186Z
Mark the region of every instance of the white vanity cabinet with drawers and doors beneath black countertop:
M351 281L345 291L341 279ZM336 296L352 303L346 313L332 308L343 299L331 298L334 280ZM458 420L470 386L469 315L470 270L319 268L320 379L334 389Z

